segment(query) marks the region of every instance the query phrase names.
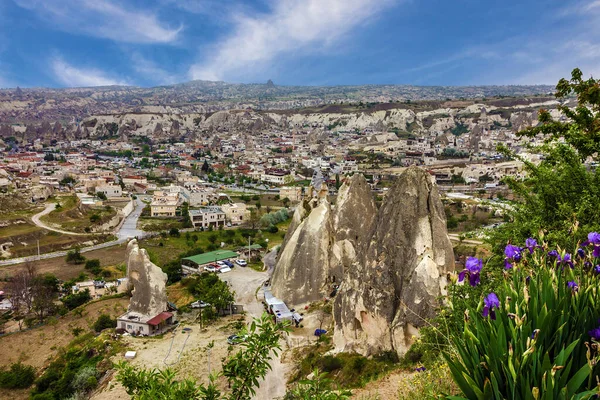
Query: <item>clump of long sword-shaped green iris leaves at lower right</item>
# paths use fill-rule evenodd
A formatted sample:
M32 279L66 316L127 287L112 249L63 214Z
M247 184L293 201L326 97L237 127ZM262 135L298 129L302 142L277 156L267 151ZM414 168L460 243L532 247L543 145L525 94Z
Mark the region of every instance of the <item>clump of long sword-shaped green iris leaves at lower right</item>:
M588 252L571 268L547 251L545 246L532 255L521 252L523 259L496 285L500 304L494 316L484 317L480 301L467 306L462 330L449 331L452 347L444 356L467 398L572 399L598 393L600 337L590 333L600 317L600 278L592 267L598 260ZM564 251L560 256L565 258Z

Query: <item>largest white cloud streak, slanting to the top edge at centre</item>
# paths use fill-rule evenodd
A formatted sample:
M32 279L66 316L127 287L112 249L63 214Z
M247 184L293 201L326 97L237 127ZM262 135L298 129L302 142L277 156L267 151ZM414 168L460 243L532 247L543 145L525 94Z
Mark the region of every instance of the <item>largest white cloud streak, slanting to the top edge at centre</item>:
M321 50L397 0L281 0L270 13L237 15L233 33L190 68L192 79L246 78L279 56Z

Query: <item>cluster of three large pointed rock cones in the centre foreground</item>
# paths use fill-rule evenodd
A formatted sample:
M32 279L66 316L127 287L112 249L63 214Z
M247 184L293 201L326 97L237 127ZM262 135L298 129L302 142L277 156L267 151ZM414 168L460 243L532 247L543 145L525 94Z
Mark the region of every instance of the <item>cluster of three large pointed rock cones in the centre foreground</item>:
M437 186L407 169L377 210L361 175L325 198L298 207L272 277L273 293L291 305L317 301L339 285L338 351L403 354L444 293L454 254ZM292 229L290 229L290 232Z

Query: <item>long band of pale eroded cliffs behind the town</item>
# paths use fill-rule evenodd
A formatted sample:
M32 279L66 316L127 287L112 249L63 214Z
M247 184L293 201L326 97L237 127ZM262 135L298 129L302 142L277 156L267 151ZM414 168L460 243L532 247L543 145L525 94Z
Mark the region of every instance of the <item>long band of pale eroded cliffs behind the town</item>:
M460 136L469 132L476 140L483 130L516 132L535 124L540 108L550 109L554 113L557 104L550 97L535 97L477 103L435 101L330 105L288 111L246 109L184 113L172 107L151 107L152 111L97 114L70 122L57 117L62 122L0 123L0 138L15 137L18 141L39 138L45 142L78 139L130 141L138 136L146 136L154 142L161 142L205 138L218 132L259 134L269 130L293 129L311 133L313 141L317 142L323 139L321 135L327 135L328 132L371 129L406 137L437 136L440 132ZM388 141L383 139L384 142Z

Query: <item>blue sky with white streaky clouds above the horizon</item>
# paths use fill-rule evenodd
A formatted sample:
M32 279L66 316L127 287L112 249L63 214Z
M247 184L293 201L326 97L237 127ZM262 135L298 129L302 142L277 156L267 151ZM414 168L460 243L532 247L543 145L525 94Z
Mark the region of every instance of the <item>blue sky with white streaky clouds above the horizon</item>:
M0 0L0 87L555 84L600 0Z

